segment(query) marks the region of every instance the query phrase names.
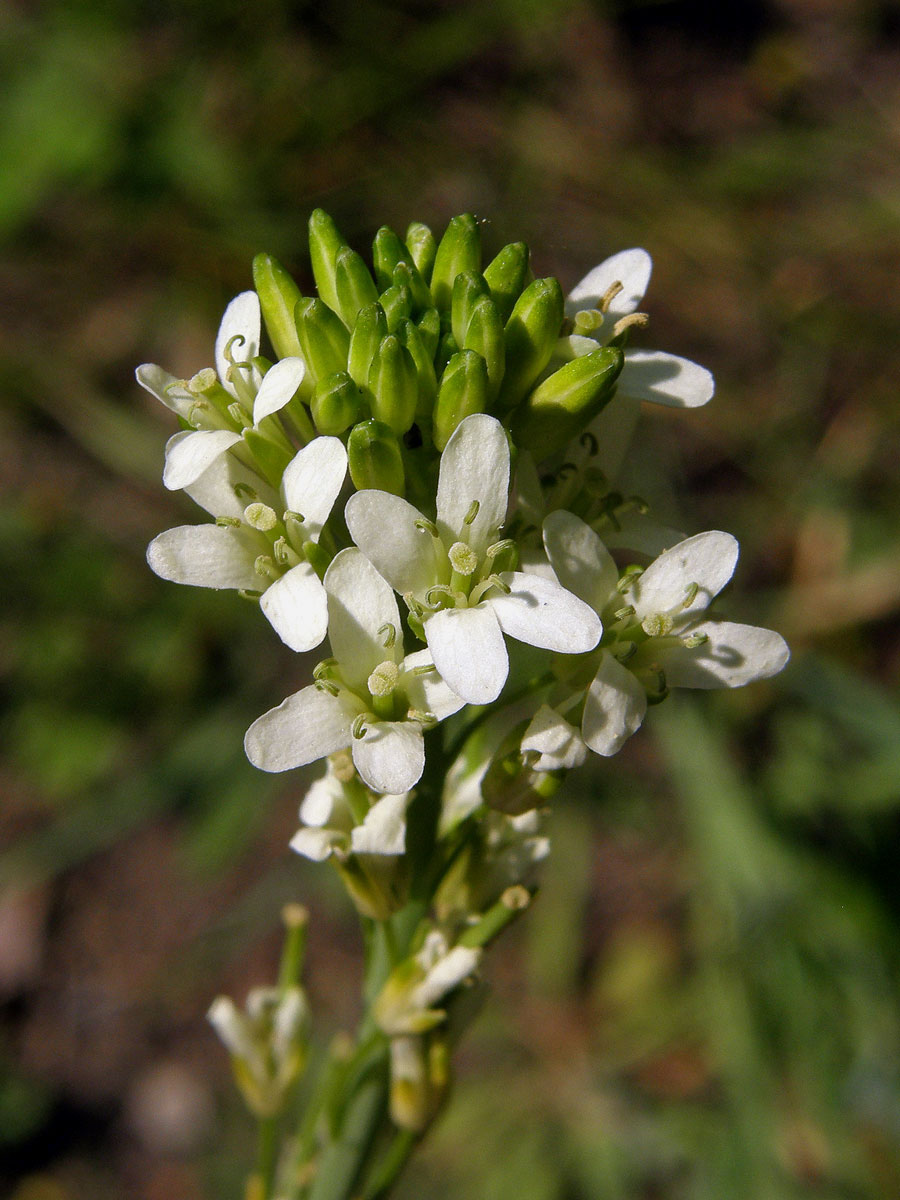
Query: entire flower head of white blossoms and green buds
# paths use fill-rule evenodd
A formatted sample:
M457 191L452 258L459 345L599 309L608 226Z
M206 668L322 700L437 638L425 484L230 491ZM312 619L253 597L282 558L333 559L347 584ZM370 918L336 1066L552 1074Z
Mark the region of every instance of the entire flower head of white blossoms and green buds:
M246 751L270 772L328 760L293 846L331 860L365 917L404 902L408 814L426 757L443 764L431 828L456 846L452 869L374 1007L413 1128L410 1081L440 1091L445 1001L528 901L546 853L535 822L565 773L618 751L670 688L739 686L788 652L713 611L730 534L685 536L619 490L641 403L713 395L703 367L631 346L644 251L565 298L521 242L485 264L472 216L439 240L380 229L370 269L317 211L310 258L314 296L257 257L215 367L138 370L182 425L166 486L214 518L160 534L148 557L163 578L238 589L294 650L328 642ZM232 1009L216 1019L250 1038Z

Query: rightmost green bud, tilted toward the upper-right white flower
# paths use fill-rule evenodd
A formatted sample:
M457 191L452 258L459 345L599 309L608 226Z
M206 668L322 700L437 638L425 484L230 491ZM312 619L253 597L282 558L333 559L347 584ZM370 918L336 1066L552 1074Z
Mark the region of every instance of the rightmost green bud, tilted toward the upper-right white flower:
M605 346L554 371L516 410L516 445L539 461L563 450L612 398L624 361L618 347Z

